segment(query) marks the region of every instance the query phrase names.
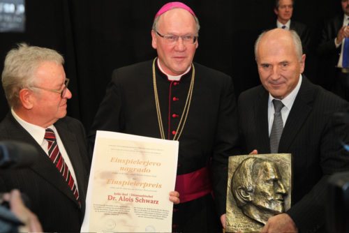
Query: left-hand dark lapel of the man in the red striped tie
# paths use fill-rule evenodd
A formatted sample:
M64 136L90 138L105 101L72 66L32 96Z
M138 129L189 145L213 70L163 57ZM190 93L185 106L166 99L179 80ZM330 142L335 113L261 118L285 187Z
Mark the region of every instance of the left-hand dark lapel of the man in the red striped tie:
M52 186L59 189L77 204L73 192L70 190L67 182L64 181L63 176L59 170L57 170L57 167L55 167L41 146L36 142L36 140L34 140L33 137L31 137L27 130L25 130L20 123L13 118L12 114L9 113L6 118L8 119L7 131L9 138L11 140L18 140L32 144L38 150L38 159L34 165L29 167L29 169L33 170L36 174L38 174L38 176L41 176L48 183L51 183Z

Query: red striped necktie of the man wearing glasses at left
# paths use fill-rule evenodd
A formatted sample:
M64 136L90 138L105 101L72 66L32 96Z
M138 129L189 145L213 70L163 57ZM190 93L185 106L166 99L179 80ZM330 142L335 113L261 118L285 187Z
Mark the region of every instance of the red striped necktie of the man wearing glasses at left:
M54 135L54 132L50 128L46 128L45 132L45 140L48 142L48 156L50 157L50 160L54 165L57 167L59 172L61 172L64 180L68 183L68 186L70 190L72 190L73 195L75 196L76 200L79 201L79 192L76 188L75 181L73 176L70 174L69 168L64 162L63 156L61 156L61 152L59 152L56 135Z

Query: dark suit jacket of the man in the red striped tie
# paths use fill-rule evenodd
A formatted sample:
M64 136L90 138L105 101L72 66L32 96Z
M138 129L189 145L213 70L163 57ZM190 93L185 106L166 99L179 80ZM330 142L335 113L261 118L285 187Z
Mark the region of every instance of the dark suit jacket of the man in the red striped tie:
M0 171L0 192L18 188L29 197L45 232L80 232L84 217L90 160L84 128L70 117L59 119L54 126L74 167L81 209L63 176L45 151L8 113L0 123L0 140L17 140L36 146L38 160L31 167Z

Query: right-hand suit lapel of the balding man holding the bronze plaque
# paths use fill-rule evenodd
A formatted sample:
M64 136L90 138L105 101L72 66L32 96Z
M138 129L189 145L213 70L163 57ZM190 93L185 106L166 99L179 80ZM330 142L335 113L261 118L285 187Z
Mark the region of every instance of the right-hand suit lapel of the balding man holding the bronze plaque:
M302 128L304 121L309 116L311 109L313 108L314 89L311 87L311 83L306 80L303 75L302 85L295 98L295 103L292 105L290 114L283 128L279 144L279 153L285 153L289 151L289 148L295 140L295 137Z

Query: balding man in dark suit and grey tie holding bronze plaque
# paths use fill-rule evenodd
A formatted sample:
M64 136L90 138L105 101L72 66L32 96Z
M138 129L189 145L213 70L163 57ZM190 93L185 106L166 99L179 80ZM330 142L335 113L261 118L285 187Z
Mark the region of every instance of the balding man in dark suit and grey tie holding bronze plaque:
M349 103L312 84L295 31L273 29L255 43L262 85L239 96L239 127L245 152L292 153L292 206L269 218L262 232L325 231L327 177L349 170L346 124L334 112ZM339 138L341 135L342 138ZM256 152L256 151L254 151Z

